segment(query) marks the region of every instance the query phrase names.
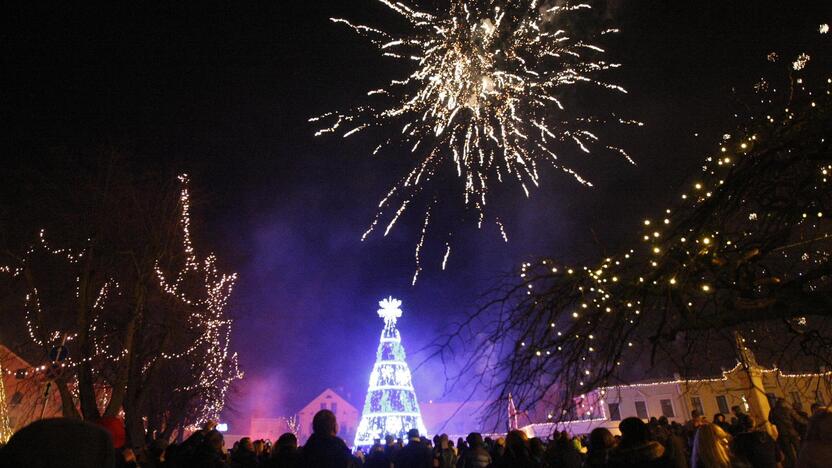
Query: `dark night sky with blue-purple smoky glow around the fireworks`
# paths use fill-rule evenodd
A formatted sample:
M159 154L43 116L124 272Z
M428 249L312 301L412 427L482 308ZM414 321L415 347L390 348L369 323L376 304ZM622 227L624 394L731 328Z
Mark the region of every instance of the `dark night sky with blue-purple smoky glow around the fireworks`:
M520 262L592 261L632 242L733 125L732 88L750 89L771 71L768 52L792 57L832 20L821 0L598 2L622 30L608 51L630 93L587 102L645 123L612 135L638 165L593 153L573 161L594 188L547 171L530 200L507 190L497 208L510 242L461 226L448 269L428 246L411 287L418 212L360 242L408 156L371 158L370 138L314 138L307 123L401 71L328 18L384 29L395 15L372 0L94 3L0 7L5 178L51 164L55 148L99 145L191 174L197 247L240 273L233 346L246 379L228 414L239 424L294 413L326 387L360 407L388 294L404 301L413 365ZM438 362L421 367L420 399L440 398L441 379Z

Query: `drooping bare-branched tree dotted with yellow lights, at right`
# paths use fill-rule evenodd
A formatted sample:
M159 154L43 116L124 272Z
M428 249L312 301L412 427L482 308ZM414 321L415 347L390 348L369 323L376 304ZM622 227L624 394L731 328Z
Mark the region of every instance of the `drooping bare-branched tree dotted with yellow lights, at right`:
M511 395L569 420L593 389L730 367L737 336L762 361L820 370L812 385L828 385L832 75L808 73L807 53L767 60L785 62L786 79L755 84L678 203L638 222L637 245L586 265L523 263L438 338L437 356L464 348L461 368L484 369L452 385L493 391L495 414Z

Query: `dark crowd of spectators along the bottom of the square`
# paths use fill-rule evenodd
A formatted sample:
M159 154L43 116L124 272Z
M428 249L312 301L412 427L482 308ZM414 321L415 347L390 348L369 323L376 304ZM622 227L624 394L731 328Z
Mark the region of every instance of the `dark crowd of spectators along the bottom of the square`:
M832 411L814 405L812 414L778 399L769 414L772 427L732 408L730 421L708 421L693 411L686 424L667 418L626 418L621 434L605 428L571 436L555 432L547 440L520 430L505 437L473 432L456 441L446 434L427 439L412 429L407 441L388 436L351 451L337 437L328 410L313 419L313 434L300 447L286 433L272 444L245 437L227 449L213 423L179 444L157 440L136 454L124 448L123 425L47 419L18 431L0 449L0 468L816 468L832 466ZM775 434L775 437L771 435ZM46 461L46 462L44 462Z

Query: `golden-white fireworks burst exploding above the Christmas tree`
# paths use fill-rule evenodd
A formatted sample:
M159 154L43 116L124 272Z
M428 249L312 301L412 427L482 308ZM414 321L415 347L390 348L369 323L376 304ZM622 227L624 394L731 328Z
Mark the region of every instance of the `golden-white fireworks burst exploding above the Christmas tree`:
M589 153L600 145L633 162L624 150L601 144L591 128L610 120L640 123L577 116L567 112L563 102L567 88L576 85L626 93L598 77L619 65L599 59L601 47L565 29L566 16L589 10L590 5L450 0L449 8L433 14L402 2L377 1L404 18L410 33L394 35L345 19L332 21L366 37L384 56L411 64L412 73L369 91L377 104L310 119L324 126L316 136L336 133L346 138L372 127L400 130L373 154L395 145L417 157L416 166L379 203L362 240L385 214L390 218L387 235L426 183L443 170L455 171L462 181L465 207L476 211L481 226L492 186L513 180L528 196L530 186L539 185L541 166L551 165L580 184L592 185L563 165L558 153ZM600 35L616 32L607 29ZM425 211L416 248L417 274L434 203ZM502 224L496 224L505 238ZM446 249L443 266L449 252Z

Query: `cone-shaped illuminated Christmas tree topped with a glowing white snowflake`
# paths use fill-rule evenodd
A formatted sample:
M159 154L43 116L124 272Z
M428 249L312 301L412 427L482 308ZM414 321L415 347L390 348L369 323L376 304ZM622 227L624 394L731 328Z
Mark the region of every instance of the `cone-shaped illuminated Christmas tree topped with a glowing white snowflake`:
M396 328L396 320L402 316L402 301L388 297L378 305L381 307L378 315L384 319L384 330L355 435L356 446L372 445L373 439L383 439L388 434L404 439L410 429L419 429L419 434L427 435L410 369L405 361L401 335Z

